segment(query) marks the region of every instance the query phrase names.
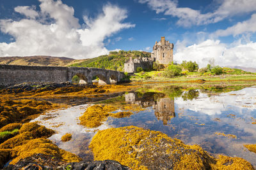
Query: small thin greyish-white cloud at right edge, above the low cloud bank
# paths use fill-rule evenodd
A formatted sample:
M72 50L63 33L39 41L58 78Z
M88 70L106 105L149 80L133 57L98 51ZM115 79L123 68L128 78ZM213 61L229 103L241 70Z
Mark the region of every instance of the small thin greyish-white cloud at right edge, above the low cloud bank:
M245 20L244 22L238 22L236 25L232 27L228 27L227 29L220 29L214 32L213 36L236 36L239 34L244 34L247 32L256 32L256 13L252 15L249 20Z

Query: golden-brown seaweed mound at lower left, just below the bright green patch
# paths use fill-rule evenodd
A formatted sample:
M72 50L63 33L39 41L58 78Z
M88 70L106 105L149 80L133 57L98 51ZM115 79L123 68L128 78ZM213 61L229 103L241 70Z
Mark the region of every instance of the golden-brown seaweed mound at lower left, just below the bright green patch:
M55 155L58 153L59 156L61 155L60 157L65 160L73 161L73 157L77 158L77 156L72 153L60 150L56 145L52 146L53 144L48 139L45 139L48 141L44 141L44 138L48 138L52 134L54 134L54 131L36 123L26 123L22 125L19 134L0 144L1 164L3 165L10 159L17 162L17 160L21 158L41 152L48 154L54 153ZM36 143L36 139L40 140L40 142L38 141L38 143ZM47 146L52 146L54 149L47 148ZM33 147L37 149L35 150Z

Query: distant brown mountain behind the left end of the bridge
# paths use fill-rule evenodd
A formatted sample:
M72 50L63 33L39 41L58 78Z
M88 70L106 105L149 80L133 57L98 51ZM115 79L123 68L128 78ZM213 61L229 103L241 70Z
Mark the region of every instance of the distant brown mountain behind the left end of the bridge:
M0 57L0 64L22 66L67 66L75 59L67 57L28 56L28 57Z

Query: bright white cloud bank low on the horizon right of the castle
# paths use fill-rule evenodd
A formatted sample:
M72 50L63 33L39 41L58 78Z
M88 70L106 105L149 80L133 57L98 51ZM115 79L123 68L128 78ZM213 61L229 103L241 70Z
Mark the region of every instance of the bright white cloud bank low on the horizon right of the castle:
M222 52L224 57L222 57ZM214 58L219 66L255 67L256 43L241 44L237 41L233 46L220 43L220 40L207 39L191 46L178 46L173 59L178 63L182 60L196 61L200 67L205 67Z

